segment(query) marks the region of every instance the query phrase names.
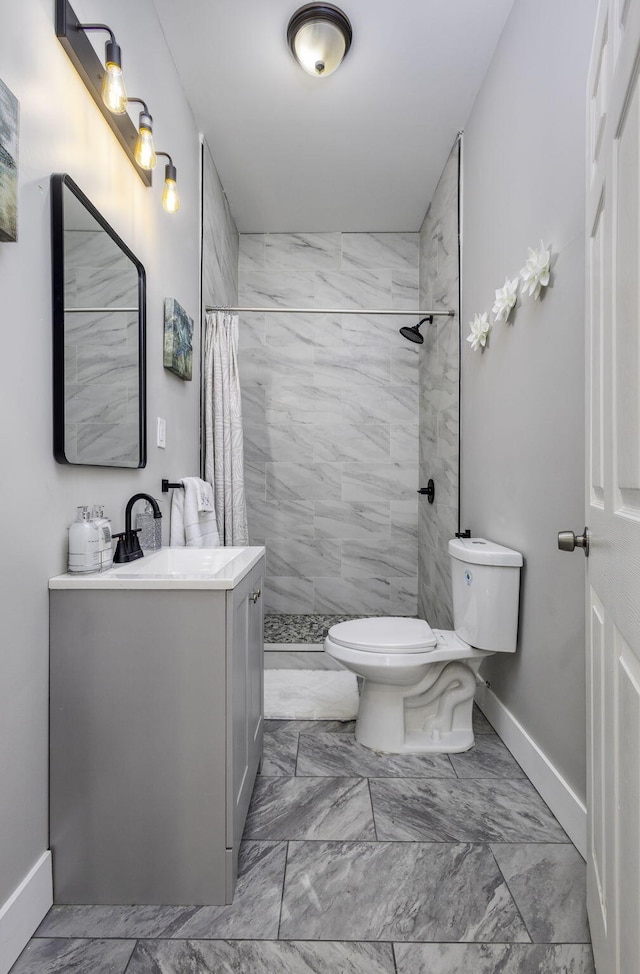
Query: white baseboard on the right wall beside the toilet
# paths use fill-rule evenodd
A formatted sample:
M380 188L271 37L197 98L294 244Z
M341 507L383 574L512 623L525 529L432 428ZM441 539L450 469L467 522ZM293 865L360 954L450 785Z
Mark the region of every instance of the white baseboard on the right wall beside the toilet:
M476 703L540 793L580 855L587 851L587 809L522 724L485 684L476 688Z

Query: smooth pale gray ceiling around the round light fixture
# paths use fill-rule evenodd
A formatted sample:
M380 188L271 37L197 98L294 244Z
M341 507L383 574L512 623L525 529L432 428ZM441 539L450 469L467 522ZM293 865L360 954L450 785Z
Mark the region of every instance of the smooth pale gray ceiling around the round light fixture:
M286 42L302 0L154 0L243 233L418 230L513 0L339 0L344 63Z

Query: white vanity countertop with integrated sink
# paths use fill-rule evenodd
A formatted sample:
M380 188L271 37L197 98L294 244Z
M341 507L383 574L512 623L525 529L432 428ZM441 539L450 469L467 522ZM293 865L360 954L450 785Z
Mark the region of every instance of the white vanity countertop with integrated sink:
M255 548L161 548L106 572L56 575L50 589L230 589L264 555Z

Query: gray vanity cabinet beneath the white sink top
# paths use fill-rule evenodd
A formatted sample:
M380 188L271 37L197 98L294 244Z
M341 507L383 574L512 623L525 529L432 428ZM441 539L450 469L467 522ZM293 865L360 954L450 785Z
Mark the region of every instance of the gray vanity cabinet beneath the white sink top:
M50 592L56 903L232 901L262 756L263 573Z

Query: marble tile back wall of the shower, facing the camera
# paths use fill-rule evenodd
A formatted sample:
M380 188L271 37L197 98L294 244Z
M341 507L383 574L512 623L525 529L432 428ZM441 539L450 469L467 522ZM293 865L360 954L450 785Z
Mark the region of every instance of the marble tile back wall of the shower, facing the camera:
M241 234L239 303L418 307L417 233ZM418 349L381 315L244 314L240 378L251 542L266 609L417 605Z

